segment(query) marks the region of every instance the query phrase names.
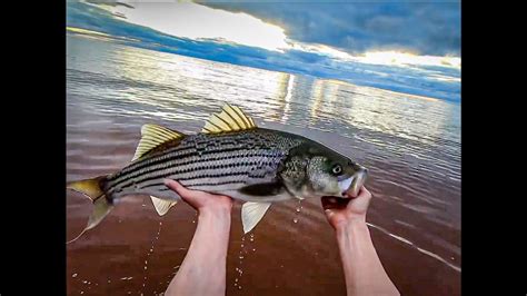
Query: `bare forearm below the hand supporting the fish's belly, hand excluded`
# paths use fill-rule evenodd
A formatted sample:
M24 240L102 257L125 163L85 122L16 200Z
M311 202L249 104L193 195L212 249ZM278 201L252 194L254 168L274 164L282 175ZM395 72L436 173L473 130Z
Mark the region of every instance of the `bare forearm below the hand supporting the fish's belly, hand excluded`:
M166 295L225 295L230 211L200 213L198 227Z

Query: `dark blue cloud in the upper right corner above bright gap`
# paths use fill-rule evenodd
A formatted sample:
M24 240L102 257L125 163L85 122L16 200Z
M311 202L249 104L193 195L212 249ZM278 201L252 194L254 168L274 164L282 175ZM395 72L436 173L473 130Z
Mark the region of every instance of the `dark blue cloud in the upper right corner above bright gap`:
M290 39L322 43L350 53L395 49L459 56L460 51L460 4L457 1L199 3L246 12L280 26Z

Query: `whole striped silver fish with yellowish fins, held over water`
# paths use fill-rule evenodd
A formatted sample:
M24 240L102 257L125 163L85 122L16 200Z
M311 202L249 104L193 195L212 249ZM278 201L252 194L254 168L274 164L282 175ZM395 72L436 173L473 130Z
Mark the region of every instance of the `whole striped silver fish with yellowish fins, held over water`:
M126 196L150 196L158 215L166 215L180 197L165 179L242 201L241 223L247 234L272 203L324 196L354 198L367 176L368 169L351 158L304 136L259 128L239 107L225 103L195 135L143 125L128 166L68 182L68 189L93 203L87 226L73 240L96 227Z

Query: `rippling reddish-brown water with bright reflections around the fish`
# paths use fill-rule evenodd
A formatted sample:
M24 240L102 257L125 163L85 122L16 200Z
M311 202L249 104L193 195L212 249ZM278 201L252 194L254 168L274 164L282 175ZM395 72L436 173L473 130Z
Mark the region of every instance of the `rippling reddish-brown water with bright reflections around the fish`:
M367 223L402 295L460 294L460 106L336 80L212 62L67 37L67 180L132 158L140 127L198 132L229 102L257 125L307 136L370 170ZM91 203L67 193L67 239ZM252 235L232 214L228 295L345 295L320 200L277 203ZM177 273L196 229L179 204L159 217L149 197L123 199L67 246L68 294L155 295Z

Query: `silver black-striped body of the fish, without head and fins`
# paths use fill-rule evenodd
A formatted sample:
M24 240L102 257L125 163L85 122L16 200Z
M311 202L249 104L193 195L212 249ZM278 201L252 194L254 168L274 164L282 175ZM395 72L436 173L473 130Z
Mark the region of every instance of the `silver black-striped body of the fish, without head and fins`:
M110 199L138 194L177 199L163 184L163 179L173 179L189 189L245 201L285 200L294 197L287 190L270 194L240 189L280 185L279 172L289 151L306 141L300 136L261 128L225 135L189 135L177 146L147 155L110 175L102 187Z

